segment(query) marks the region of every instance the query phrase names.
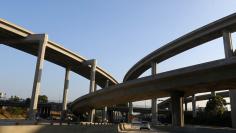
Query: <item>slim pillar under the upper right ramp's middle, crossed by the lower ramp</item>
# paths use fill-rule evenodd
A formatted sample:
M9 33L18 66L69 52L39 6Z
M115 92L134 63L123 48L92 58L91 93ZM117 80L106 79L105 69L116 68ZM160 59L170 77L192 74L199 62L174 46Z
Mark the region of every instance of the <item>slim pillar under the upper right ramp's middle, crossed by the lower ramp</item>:
M156 75L157 74L157 64L156 62L152 62L151 64L152 66L152 75ZM157 121L157 118L158 118L158 112L157 112L157 99L156 98L153 98L152 99L152 123L153 124L156 124L158 121Z

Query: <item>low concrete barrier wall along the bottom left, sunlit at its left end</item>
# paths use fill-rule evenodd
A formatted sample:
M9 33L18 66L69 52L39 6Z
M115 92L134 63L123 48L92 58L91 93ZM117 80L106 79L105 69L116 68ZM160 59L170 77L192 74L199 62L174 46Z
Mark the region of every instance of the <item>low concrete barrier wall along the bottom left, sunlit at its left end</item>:
M117 125L16 125L0 126L0 133L118 133Z

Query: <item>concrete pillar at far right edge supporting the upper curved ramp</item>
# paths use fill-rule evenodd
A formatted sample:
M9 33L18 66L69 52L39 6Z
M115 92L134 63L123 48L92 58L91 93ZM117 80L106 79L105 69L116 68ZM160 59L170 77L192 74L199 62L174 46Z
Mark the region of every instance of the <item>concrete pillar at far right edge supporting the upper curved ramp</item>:
M223 41L224 41L225 58L226 59L231 58L234 55L234 53L233 53L231 33L229 31L223 31ZM236 90L229 90L229 95L230 95L232 127L236 128Z

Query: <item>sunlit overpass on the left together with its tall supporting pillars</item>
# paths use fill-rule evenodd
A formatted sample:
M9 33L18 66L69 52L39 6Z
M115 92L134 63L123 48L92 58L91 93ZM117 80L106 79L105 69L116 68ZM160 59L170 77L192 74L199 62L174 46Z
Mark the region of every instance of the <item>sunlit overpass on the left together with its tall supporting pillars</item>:
M67 110L66 104L70 71L90 80L90 87L88 87L90 88L90 92L96 89L96 84L104 88L105 86L118 83L110 74L96 65L96 60L87 60L63 48L59 44L50 41L46 34L35 34L4 19L0 19L0 44L37 56L30 104L30 119L35 119L37 112L44 60L65 68L63 111Z

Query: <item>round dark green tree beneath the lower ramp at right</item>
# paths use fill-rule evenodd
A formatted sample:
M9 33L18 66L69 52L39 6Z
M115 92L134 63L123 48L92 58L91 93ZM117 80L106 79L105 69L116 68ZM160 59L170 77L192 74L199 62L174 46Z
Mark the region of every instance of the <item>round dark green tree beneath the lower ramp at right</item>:
M226 105L225 99L221 96L216 95L209 99L205 111L208 115L211 116L223 115L224 111L227 110L225 105Z

